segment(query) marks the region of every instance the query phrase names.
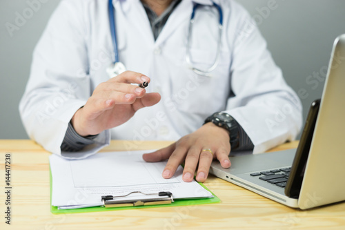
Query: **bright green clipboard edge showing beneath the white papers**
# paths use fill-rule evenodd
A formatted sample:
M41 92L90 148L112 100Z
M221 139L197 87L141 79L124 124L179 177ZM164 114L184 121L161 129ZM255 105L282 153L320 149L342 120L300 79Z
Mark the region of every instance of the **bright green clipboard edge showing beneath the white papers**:
M196 205L196 204L213 204L219 203L220 199L213 194L206 186L199 182L199 184L204 187L207 191L212 193L213 198L202 198L202 199L180 199L175 200L171 204L157 204L157 205L149 205L149 206L133 206L133 207L114 207L114 208L106 208L106 207L89 207L89 208L81 208L81 209L58 209L55 206L52 206L52 172L49 168L49 175L50 175L50 212L53 214L67 214L67 213L88 213L93 211L114 211L114 210L124 210L124 209L146 209L146 208L157 208L157 207L176 207L176 206L186 206L186 205Z

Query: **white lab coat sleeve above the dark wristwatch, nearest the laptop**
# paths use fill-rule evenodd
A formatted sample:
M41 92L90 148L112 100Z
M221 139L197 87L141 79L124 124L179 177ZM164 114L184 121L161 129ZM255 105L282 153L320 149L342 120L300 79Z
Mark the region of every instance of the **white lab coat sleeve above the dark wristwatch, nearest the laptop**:
M302 104L284 81L253 19L245 10L235 10L242 11L243 16L231 44L230 74L235 96L228 99L226 112L252 140L253 153L262 153L295 140L302 126Z

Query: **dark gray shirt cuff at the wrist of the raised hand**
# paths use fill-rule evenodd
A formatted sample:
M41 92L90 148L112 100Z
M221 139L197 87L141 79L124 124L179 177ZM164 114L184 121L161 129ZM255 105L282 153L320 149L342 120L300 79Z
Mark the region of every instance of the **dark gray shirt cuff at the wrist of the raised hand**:
M66 135L63 138L63 142L60 146L61 151L64 152L77 152L84 148L85 146L88 146L90 144L95 143L95 138L98 135L90 135L88 137L82 137L79 135L75 128L73 128L71 123L68 123L68 128L66 131Z

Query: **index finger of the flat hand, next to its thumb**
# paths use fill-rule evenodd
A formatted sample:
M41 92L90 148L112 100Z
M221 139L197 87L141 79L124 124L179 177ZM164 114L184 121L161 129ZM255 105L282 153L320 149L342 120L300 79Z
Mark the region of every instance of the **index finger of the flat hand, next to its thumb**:
M162 173L163 178L171 178L175 174L177 167L184 161L188 148L177 146L169 157L168 163Z

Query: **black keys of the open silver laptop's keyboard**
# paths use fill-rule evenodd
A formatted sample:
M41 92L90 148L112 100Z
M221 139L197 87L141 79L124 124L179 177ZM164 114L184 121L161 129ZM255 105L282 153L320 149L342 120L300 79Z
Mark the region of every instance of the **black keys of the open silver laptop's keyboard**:
M260 180L264 180L270 184L275 184L281 188L285 188L288 176L290 175L291 167L282 169L273 169L270 171L262 171L257 173L250 173L251 176L257 177Z

